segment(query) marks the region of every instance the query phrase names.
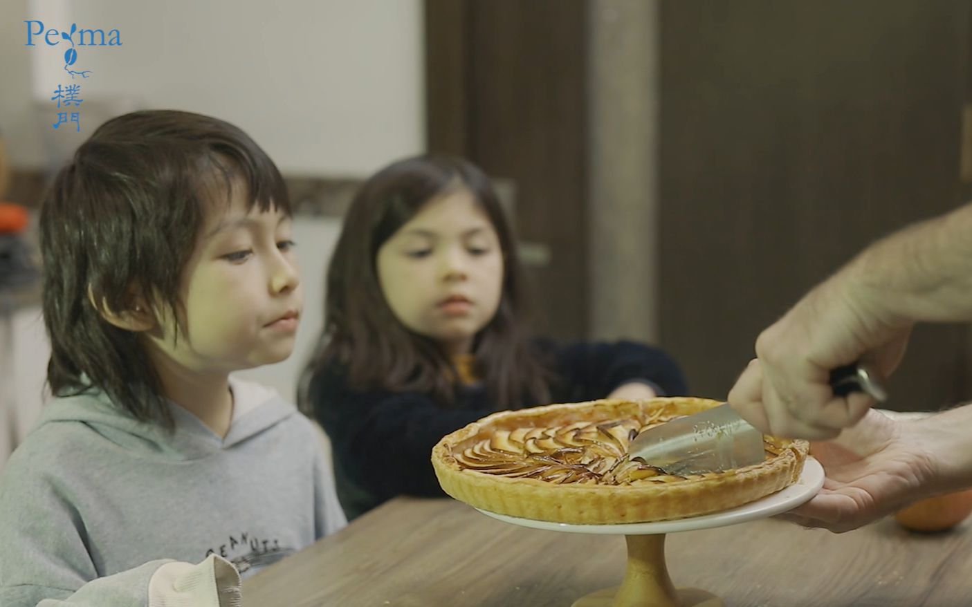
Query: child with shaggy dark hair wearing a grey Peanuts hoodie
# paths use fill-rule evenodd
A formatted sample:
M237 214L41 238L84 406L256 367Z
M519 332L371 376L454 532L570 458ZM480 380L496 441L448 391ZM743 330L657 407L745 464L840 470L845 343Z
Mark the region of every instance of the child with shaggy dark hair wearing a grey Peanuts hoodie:
M232 604L229 562L344 523L311 422L229 378L291 354L291 223L273 162L216 118L112 119L60 171L41 212L56 398L0 480L0 605Z

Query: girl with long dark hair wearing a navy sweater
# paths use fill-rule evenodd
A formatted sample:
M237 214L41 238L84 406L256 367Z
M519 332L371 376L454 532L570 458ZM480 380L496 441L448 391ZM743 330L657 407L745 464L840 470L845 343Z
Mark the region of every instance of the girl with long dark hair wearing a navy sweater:
M657 349L528 337L496 193L458 158L409 158L370 178L348 211L327 289L303 404L330 436L349 519L401 493L442 495L434 444L490 412L685 390Z

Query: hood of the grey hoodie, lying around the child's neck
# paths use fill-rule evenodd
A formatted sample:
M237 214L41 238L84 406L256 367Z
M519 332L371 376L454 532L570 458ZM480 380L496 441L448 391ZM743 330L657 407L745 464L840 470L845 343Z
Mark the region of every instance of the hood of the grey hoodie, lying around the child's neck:
M280 422L299 415L294 405L275 390L229 378L233 416L226 437L221 437L172 401L167 401L174 431L154 422L140 422L113 403L101 390L55 398L45 405L34 431L49 424L82 423L122 449L166 459L197 459L219 453Z

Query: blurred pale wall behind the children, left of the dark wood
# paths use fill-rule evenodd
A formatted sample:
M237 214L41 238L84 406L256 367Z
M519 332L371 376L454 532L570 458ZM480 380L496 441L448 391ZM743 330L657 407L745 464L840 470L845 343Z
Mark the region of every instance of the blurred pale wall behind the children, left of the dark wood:
M366 174L425 148L421 17L419 0L4 0L0 128L16 167L46 166L33 101L52 107L67 43L25 48L23 19L77 22L121 32L78 48L87 103L218 116L285 173Z

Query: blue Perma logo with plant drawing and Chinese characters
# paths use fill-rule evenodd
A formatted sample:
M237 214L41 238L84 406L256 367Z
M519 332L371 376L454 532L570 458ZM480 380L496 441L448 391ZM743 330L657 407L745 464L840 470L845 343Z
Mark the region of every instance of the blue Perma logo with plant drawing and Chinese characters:
M71 80L74 80L76 76L85 79L91 75L91 70L74 69L75 64L78 62L78 47L121 47L121 32L117 28L108 30L106 38L105 30L79 29L77 23L71 23L71 28L67 31L58 31L54 28L45 31L43 21L24 19L23 22L27 26L27 42L23 45L24 47L36 47L37 43L34 42L34 37L39 37L41 34L44 34L44 44L49 47L56 47L61 41L65 41L71 45L70 49L64 51L64 71L68 73ZM74 41L76 35L78 38L77 44ZM57 102L58 110L71 109L72 106L77 110L81 108L81 104L84 101L80 95L81 84L65 84L63 86L58 84L57 89L53 91L51 100ZM75 131L81 130L80 112L57 112L57 121L52 123L51 126L52 128L57 128L61 124L66 124L68 121L75 123Z

